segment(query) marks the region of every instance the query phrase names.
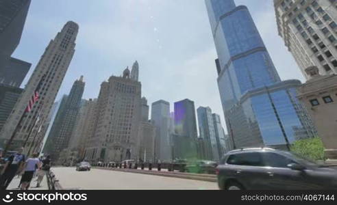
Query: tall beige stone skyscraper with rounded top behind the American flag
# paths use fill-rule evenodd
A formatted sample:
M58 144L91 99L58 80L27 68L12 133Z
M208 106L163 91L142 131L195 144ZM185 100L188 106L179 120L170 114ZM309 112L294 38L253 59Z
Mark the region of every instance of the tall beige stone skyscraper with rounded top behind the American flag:
M18 102L16 102L14 111L3 127L0 133L0 139L10 138L14 133L16 126L18 126L19 130L14 136L16 145L21 146L22 142L26 141L27 138L29 138L28 145L32 142L32 136L28 136L29 131L32 126L34 126L39 111L41 113L40 122L42 124L44 124L44 121L49 116L49 112L51 111L55 97L58 94L60 85L71 63L71 59L73 59L78 29L79 27L76 23L69 21L64 25L62 31L57 34L55 39L49 42L32 77L30 77L25 86L25 91L21 95L21 98L18 99ZM41 79L43 79L43 81L41 81ZM32 111L24 113L39 82L42 82L39 93L40 99L34 104ZM25 114L25 117L21 124L18 125L19 119L21 119L23 114ZM43 137L44 135L45 133L40 133L38 138Z

